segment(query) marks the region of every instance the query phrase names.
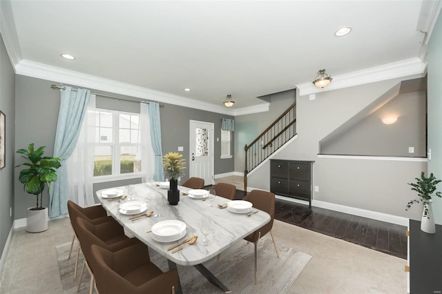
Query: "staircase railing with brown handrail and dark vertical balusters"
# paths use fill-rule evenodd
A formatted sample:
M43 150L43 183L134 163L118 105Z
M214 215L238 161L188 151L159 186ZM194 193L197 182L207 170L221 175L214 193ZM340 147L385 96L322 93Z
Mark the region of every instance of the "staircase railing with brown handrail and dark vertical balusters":
M244 147L244 191L247 191L247 175L265 159L296 135L296 102L262 132L251 144Z

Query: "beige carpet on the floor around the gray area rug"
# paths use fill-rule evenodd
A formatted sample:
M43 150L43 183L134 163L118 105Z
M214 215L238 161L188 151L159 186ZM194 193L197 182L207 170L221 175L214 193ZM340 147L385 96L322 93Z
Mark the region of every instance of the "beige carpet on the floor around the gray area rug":
M407 293L405 259L275 221L277 244L311 255L288 293ZM63 293L57 244L70 242L69 219L49 222L44 233L13 233L0 282L1 294ZM266 293L267 294L267 293Z

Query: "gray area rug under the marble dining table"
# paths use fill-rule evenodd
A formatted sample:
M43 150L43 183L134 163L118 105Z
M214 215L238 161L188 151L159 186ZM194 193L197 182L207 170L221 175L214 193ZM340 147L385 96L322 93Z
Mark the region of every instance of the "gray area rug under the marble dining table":
M57 246L57 256L63 293L77 293L78 277L74 281L74 256L68 259L70 243ZM253 244L241 241L204 266L218 277L232 293L287 293L290 286L311 259L310 255L278 244L280 258L276 257L271 239L264 237L258 243L258 285L254 284ZM74 246L76 250L76 245ZM151 261L163 271L168 270L167 260L155 251L149 251ZM81 255L78 271L81 270ZM87 272L87 270L85 270ZM208 282L193 266L178 266L183 293L224 293ZM90 277L83 277L79 293L88 293Z

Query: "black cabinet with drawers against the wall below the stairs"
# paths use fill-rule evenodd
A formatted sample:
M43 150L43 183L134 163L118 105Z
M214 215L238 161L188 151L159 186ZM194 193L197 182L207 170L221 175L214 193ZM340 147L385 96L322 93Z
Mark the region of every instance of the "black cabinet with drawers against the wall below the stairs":
M308 201L311 207L313 163L314 161L271 159L271 193Z

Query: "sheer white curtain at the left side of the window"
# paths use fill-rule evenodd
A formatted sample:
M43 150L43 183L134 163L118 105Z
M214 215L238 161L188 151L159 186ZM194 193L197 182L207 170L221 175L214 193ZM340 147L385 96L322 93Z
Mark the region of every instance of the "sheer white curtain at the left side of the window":
M77 146L66 159L69 179L69 197L79 206L95 205L93 196L95 95L90 95ZM88 130L89 128L89 130Z

